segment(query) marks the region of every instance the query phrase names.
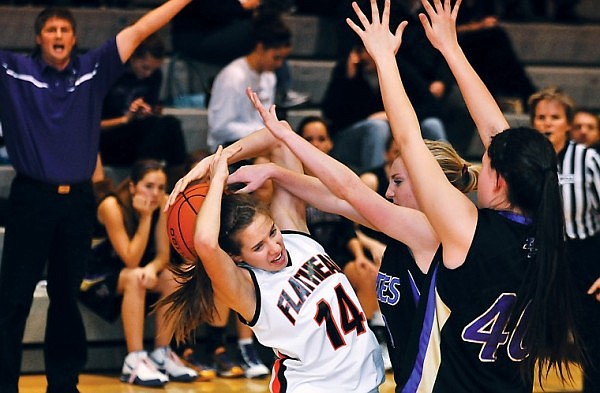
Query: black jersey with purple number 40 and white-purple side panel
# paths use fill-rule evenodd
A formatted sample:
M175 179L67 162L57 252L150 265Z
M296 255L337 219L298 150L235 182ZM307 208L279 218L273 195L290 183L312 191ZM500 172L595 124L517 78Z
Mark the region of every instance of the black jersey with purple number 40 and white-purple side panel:
M399 391L532 391L520 374L526 312L509 324L535 253L527 224L522 216L482 209L464 264L452 270L433 265L431 285L421 295L423 326L412 372Z

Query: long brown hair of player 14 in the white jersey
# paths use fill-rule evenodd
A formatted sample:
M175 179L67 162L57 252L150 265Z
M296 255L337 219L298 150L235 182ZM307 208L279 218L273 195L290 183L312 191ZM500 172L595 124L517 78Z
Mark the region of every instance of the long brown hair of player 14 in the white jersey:
M239 255L241 242L237 234L250 225L258 214L269 215L268 208L254 196L224 194L221 202L219 246L230 255ZM177 342L190 338L196 328L210 322L217 312L215 296L200 259L179 263L172 259L169 269L180 284L172 294L160 300L156 307L167 306L165 320L173 327Z

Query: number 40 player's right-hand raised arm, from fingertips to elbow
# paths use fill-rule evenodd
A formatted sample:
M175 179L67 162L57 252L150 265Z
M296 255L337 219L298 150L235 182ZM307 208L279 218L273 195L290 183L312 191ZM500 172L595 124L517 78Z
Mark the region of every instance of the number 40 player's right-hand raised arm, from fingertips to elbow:
M506 130L509 125L496 100L458 45L456 17L461 0L456 1L454 8L450 6L450 0L444 0L444 6L441 0L434 0L433 6L427 0L421 0L421 3L427 12L427 15L419 14L425 34L446 59L487 149L491 137Z

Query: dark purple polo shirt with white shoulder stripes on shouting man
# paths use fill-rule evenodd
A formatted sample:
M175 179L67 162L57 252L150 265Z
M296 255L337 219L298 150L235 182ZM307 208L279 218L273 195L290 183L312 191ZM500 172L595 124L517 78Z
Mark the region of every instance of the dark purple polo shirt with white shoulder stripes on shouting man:
M123 70L115 38L63 71L0 51L0 122L17 173L54 184L90 179L102 100Z

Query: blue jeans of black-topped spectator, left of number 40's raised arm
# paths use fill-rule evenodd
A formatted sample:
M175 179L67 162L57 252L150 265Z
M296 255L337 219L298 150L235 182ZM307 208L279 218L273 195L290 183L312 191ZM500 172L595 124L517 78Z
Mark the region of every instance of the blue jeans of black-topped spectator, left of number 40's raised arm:
M387 120L362 120L335 133L331 155L362 173L383 165L385 144L390 137Z

